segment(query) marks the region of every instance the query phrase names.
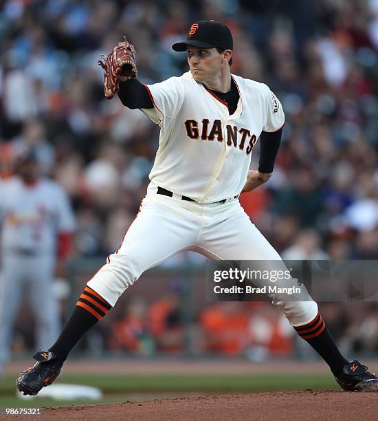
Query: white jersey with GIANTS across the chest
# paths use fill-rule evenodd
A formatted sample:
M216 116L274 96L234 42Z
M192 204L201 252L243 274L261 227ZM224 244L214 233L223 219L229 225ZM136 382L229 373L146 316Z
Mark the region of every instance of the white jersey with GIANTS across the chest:
M146 85L155 108L142 111L160 126L155 185L204 204L241 193L261 131L277 131L285 116L267 85L232 78L240 95L232 116L190 72Z

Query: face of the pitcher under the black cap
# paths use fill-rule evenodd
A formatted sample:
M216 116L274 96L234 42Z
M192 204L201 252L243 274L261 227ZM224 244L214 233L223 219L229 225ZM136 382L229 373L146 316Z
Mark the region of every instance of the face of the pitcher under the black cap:
M216 48L197 48L188 45L186 51L190 72L196 82L206 83L219 75L223 56Z

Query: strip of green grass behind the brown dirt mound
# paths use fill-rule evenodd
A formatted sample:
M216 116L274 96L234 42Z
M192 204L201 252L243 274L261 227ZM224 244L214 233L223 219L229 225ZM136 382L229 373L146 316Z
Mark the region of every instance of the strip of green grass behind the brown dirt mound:
M0 382L0 408L66 406L68 404L90 404L90 401L56 401L47 399L19 400L15 397L15 376L7 376ZM169 375L89 375L66 374L58 379L63 383L74 383L99 387L104 393L100 402L122 402L147 400L153 393L230 393L251 391L285 391L310 389L337 389L330 374L169 374ZM133 393L132 396L128 396ZM144 393L135 396L135 393ZM146 396L145 393L150 393ZM156 398L157 396L155 396ZM94 403L94 402L93 402Z

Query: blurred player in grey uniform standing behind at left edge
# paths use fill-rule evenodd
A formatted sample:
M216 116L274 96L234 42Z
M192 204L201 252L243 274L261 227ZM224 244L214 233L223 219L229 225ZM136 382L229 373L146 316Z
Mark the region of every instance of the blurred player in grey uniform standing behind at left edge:
M26 292L36 316L36 346L58 336L53 289L56 256L67 257L75 222L69 200L56 182L40 176L30 152L19 158L18 177L0 187L0 368L10 357L12 327Z

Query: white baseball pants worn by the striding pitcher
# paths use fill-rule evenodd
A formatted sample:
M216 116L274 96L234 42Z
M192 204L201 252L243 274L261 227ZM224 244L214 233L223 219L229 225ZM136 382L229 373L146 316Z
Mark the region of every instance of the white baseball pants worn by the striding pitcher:
M237 199L223 204L199 204L181 200L176 195L157 195L156 191L157 187L151 183L140 213L127 230L120 248L87 283L112 306L145 270L184 250L199 252L211 259L282 261ZM286 269L283 262L282 266ZM258 286L267 282L261 281ZM292 287L294 283L289 279L277 281L275 285ZM318 314L318 305L303 287L302 290L303 301L280 300L277 294L269 294L293 326L309 323Z

